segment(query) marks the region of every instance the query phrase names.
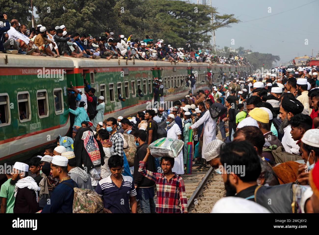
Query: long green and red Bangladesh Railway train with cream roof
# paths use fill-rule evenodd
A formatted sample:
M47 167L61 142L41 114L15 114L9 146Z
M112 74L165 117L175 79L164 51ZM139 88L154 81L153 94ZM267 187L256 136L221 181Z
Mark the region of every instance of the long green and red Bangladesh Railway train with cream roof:
M221 71L251 70L207 63L170 63L119 59L50 58L0 54L0 162L23 160L53 142L70 129L67 87L84 93L84 82L105 97L104 117L129 116L145 110L153 98L153 77L164 82L165 101L177 100L189 92L185 78L197 72L196 90L207 87L205 74L212 70L214 82ZM137 94L142 90L143 97ZM126 100L118 100L118 93Z

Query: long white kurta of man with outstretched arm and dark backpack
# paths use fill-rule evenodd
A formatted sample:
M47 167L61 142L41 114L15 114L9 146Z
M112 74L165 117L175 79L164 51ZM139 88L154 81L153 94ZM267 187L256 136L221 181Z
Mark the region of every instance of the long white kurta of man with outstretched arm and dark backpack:
M206 145L208 145L211 141L216 139L216 120L215 118L211 118L211 114L209 113L209 110L207 110L204 113L204 115L190 127L192 129L196 129L203 123L204 123L204 128L203 128L204 136L203 136L202 158L204 158Z

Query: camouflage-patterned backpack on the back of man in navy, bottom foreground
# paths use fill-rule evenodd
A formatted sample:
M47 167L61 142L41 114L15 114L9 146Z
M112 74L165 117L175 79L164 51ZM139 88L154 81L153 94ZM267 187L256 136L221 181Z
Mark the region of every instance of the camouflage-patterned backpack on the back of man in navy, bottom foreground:
M72 213L98 213L103 210L103 201L99 194L90 189L80 189L67 182L62 182L74 190Z

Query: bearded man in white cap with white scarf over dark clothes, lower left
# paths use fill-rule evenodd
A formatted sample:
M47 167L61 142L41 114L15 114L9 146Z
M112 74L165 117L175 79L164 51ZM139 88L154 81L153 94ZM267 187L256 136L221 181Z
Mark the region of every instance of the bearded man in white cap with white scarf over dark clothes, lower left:
M31 176L27 176L29 166L26 163L16 162L11 172L10 184L16 185L14 189L13 213L36 213L40 210L38 203L39 186Z

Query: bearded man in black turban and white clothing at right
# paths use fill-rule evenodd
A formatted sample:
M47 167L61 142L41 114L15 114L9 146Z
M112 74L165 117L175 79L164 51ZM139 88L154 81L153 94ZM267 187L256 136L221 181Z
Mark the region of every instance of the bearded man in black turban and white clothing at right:
M280 105L279 118L281 119L281 124L279 126L279 132L284 133L281 143L288 153L293 153L299 155L299 146L297 141L294 141L290 131L291 126L288 121L293 117L293 115L300 114L303 111L303 105L301 102L294 98L288 98L285 96Z

